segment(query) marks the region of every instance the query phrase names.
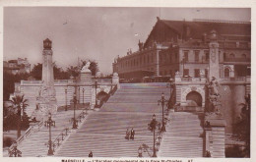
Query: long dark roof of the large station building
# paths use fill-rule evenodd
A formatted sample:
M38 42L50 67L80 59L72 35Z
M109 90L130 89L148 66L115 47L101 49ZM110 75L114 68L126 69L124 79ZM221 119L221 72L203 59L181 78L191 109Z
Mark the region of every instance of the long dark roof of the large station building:
M161 20L167 27L170 27L177 31L179 34L182 34L184 27L190 28L190 36L192 38L201 38L204 33L208 33L215 29L218 34L221 35L242 35L250 36L251 35L251 24L244 22L227 22L227 21L167 21Z

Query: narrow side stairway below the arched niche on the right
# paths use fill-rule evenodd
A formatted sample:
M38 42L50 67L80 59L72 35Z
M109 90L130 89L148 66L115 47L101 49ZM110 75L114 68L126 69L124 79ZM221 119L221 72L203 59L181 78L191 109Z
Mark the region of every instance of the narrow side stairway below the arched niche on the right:
M160 144L160 157L203 157L202 115L170 112Z

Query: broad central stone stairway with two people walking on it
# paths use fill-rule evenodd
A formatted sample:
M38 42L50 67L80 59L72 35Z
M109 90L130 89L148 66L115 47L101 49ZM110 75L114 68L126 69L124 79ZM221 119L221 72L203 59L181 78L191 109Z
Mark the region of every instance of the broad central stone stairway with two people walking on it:
M88 157L137 157L141 144L153 146L153 133L148 124L153 114L161 119L158 106L161 92L169 98L169 87L164 82L123 83L113 96L88 116L76 134L70 135L55 156ZM125 139L127 129L135 130L135 139ZM143 154L148 156L147 152Z

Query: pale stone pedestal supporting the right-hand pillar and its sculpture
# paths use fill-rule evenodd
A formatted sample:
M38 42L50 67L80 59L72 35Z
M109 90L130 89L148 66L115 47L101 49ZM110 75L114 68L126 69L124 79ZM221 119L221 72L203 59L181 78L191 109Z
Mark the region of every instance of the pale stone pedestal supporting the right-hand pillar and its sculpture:
M225 121L223 118L207 119L209 127L205 128L206 151L211 153L211 157L224 158L224 129Z

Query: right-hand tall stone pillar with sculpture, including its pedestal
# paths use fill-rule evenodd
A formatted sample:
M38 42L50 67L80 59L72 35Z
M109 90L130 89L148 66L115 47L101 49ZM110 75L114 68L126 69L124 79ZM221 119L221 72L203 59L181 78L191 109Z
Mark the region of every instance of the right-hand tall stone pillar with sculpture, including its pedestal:
M224 158L224 129L225 120L223 115L224 107L220 99L219 92L219 79L220 79L220 65L219 65L219 43L218 36L215 30L211 31L210 35L210 61L209 61L209 110L205 115L205 123L208 126L205 127L206 135L210 134L212 136L211 145L206 146L206 151L210 152L211 157L222 157ZM207 135L206 138L209 138ZM210 142L207 142L210 143Z

